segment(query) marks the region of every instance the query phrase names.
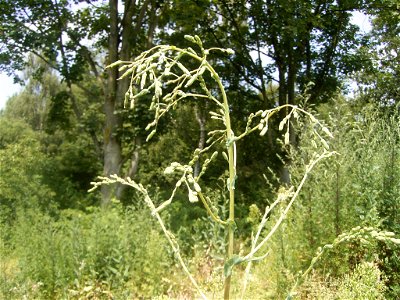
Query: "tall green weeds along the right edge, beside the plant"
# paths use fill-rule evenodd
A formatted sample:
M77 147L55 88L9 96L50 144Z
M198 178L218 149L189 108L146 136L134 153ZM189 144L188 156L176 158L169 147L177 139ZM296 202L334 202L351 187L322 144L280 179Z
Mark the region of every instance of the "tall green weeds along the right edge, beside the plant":
M319 108L320 118L325 118L333 131L330 147L339 155L315 168L288 218L285 240L290 243L284 243L284 249L286 257L298 261L287 262L293 273L304 269L307 257L319 246L358 225L399 232L399 217L395 213L400 196L399 114L373 105L354 111L352 104L339 96ZM301 161L307 160L315 149L311 137L303 130L299 147L293 152L294 182L301 178ZM378 256L379 268L387 279L385 296L397 299L397 249L378 241L353 241L323 257L317 268L341 277L362 261Z

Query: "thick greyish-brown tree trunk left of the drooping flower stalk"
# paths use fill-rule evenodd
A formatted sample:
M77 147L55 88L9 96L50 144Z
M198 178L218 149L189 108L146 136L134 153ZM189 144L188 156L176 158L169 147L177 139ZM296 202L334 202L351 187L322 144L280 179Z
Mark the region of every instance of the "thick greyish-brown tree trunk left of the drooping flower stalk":
M118 59L129 61L132 59L133 49L137 46L136 37L140 34L146 13L151 5L150 0L145 0L141 6L134 0L124 2L124 13L119 24L118 21L118 0L110 0L110 35L108 44L108 64ZM156 26L156 17L152 19L154 24L149 24L150 30L154 31ZM135 24L135 26L133 26ZM152 33L149 33L148 43L152 40ZM119 50L120 49L120 50ZM118 114L118 110L123 109L123 101L125 93L129 88L129 78L117 80L119 78L118 69L111 68L108 70L108 85L104 112L106 116L106 125L104 128L104 175L112 174L120 175L124 162L130 161L126 176L133 177L138 169L141 141L140 138L135 139L135 148L129 159L122 157L121 140L117 134L119 128L122 127L122 117ZM117 186L113 189L111 186L103 186L102 188L102 206L107 206L113 195L121 197L124 187Z

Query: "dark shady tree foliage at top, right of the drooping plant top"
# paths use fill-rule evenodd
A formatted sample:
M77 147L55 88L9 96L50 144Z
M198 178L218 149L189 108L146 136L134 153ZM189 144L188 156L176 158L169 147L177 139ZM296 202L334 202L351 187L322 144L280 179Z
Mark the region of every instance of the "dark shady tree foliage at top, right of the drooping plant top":
M304 90L309 93L308 103L324 102L347 73L362 66L355 51L361 43L358 27L350 22L351 13L365 7L361 1L189 1L187 5L203 8L196 11L193 26L185 26L182 19L195 10L185 11L181 1L177 3L179 13L172 18L176 26L180 24L179 30L196 32L205 37L206 45L235 50L228 63L217 60L220 67L216 69L226 80L232 107L239 108L233 111L238 119L254 109L297 105ZM175 36L173 33L171 38ZM277 93L268 91L272 83L276 83ZM276 153L286 156L276 138L276 130L269 131L265 147L273 153L271 157ZM291 134L292 144L296 139ZM257 156L257 161L263 160L265 154ZM287 182L287 172L281 171Z

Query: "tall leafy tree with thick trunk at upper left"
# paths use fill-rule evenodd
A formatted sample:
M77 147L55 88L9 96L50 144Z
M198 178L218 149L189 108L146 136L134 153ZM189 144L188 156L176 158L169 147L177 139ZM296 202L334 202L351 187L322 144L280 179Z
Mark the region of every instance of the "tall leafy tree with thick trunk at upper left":
M22 69L26 53L42 59L65 82L67 93L60 99L67 98L78 122L87 107L79 105L74 89L82 90L88 99L101 99L103 144L96 132L85 129L103 156L104 175L119 174L129 163L127 175L133 176L139 158L135 149L123 157L119 135L124 117L119 111L127 80L118 81L118 70L104 72L104 66L128 60L152 44L161 4L156 0L110 0L108 5L102 1L5 0L0 5L1 70L12 73ZM95 87L88 87L88 82L96 82ZM140 139L135 141L136 148L140 144ZM112 191L104 188L102 204L107 205L111 197Z

